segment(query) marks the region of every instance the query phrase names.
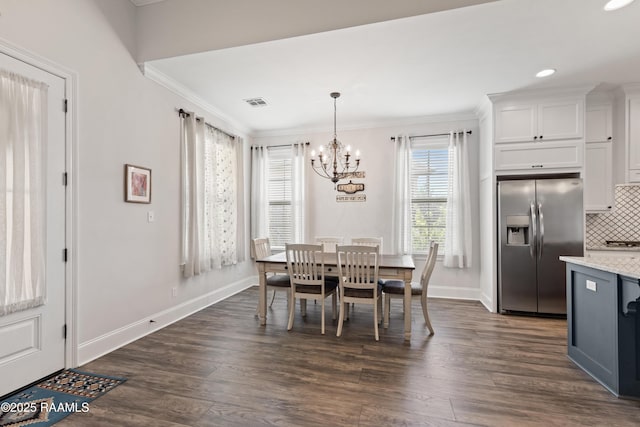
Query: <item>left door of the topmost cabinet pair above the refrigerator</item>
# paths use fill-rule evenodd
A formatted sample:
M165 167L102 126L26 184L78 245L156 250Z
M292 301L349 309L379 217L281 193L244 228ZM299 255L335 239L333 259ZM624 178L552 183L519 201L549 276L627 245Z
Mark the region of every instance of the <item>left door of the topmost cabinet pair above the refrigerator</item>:
M500 105L496 107L494 141L528 142L537 136L536 104Z

